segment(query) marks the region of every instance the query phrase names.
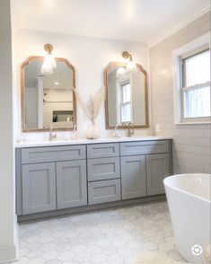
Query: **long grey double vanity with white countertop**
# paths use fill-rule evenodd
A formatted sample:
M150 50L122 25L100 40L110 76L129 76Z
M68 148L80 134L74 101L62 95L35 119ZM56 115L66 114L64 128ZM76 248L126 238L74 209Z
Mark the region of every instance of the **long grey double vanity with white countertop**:
M171 138L124 137L16 145L19 221L164 198Z

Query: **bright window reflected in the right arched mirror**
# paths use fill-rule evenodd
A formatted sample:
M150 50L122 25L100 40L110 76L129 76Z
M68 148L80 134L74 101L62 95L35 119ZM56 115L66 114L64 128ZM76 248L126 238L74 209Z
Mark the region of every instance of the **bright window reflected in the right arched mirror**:
M120 116L121 122L131 121L131 94L130 83L120 85Z

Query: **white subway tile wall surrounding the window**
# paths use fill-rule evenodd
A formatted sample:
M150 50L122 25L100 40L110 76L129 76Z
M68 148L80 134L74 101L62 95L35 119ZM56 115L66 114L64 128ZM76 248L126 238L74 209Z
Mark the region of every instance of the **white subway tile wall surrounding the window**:
M210 124L174 125L173 61L175 48L210 31L210 12L150 49L152 118L160 124L156 135L173 137L173 172L208 172L210 164ZM154 129L155 130L155 129Z

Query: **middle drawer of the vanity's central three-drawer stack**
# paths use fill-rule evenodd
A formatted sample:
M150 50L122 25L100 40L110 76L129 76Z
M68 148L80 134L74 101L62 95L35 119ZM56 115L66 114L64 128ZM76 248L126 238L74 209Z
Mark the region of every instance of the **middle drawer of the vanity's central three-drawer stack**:
M120 178L119 157L90 159L88 180L111 180Z

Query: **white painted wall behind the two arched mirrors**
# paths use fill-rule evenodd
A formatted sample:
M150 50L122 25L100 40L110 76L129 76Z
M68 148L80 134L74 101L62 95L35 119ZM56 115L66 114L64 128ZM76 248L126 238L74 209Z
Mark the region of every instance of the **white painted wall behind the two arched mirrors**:
M31 55L44 56L44 44L51 43L54 47L55 57L66 57L75 66L76 89L82 94L84 101L88 100L90 93L97 91L103 84L103 70L110 61L123 61L121 53L128 50L135 61L148 71L148 48L146 44L119 40L101 40L93 38L75 37L64 34L55 34L38 31L18 31L15 35L15 69L16 69L16 96L17 117L16 137L21 131L21 105L20 105L20 65ZM101 136L110 136L105 130L104 105L101 107L97 124L101 127ZM84 113L77 108L78 136L85 136L89 121ZM140 134L150 133L150 130L140 130ZM26 138L47 136L43 134L25 134Z

